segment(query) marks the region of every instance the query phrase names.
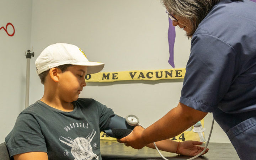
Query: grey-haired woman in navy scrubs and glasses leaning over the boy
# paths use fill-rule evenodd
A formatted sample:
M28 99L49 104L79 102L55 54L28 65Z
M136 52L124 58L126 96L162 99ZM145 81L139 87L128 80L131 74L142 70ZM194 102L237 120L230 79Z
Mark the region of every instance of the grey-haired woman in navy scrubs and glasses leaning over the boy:
M172 24L191 38L180 102L145 130L119 140L140 149L175 137L213 113L241 160L256 157L256 3L162 0Z

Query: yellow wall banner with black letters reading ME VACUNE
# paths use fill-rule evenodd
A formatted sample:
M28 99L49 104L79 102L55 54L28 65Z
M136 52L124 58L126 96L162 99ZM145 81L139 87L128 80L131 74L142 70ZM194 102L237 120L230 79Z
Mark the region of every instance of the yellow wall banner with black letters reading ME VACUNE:
M119 72L100 72L86 74L86 82L114 82L127 80L161 80L161 79L184 79L185 68L162 69L162 70L133 70Z

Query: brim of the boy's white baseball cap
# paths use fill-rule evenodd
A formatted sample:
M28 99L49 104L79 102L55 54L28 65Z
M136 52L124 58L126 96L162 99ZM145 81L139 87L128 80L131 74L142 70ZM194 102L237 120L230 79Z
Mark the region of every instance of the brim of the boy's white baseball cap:
M87 74L94 74L100 72L104 68L104 63L101 62L79 62L73 63L74 65L88 66Z

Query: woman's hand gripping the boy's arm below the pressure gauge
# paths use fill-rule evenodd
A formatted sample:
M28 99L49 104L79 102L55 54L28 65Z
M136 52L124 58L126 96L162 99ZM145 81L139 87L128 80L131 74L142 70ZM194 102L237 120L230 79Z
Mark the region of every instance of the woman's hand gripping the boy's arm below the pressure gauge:
M135 149L141 149L147 144L142 139L142 132L144 128L136 126L133 131L124 138L117 139L118 142L124 143L126 146L131 146Z

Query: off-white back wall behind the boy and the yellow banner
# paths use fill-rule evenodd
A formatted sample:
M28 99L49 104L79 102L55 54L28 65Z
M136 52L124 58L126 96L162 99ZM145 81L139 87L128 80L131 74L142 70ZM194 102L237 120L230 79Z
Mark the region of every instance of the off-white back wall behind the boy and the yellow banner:
M167 62L168 17L158 0L33 0L31 23L30 46L36 55L31 59L30 104L43 95L34 62L53 43L79 46L89 60L105 63L103 71L172 68ZM176 28L175 68L185 68L189 57L190 40L184 35ZM149 126L177 105L181 88L182 80L89 82L80 97L95 98L123 117L136 114ZM205 118L206 137L211 118ZM215 126L211 142L230 143Z

